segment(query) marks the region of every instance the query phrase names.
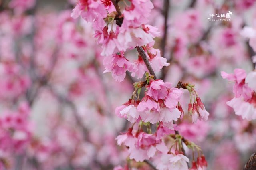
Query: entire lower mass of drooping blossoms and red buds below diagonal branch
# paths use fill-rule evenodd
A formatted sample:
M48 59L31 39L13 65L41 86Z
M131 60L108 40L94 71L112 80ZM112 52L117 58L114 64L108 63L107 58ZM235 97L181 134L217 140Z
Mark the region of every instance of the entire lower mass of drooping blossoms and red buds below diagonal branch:
M146 74L145 82L137 82L133 83L133 85L135 91L132 98L115 110L117 116L126 118L133 123L133 126L125 134L117 136L117 143L119 145L124 144L129 148L129 159L143 162L145 159L152 158L155 160L160 156L161 159L157 161L157 169L175 168L177 170L188 170L187 162L189 162L189 159L181 151L182 137L175 136L174 132L176 125L174 121L182 119L184 115L184 111L179 104L183 91L171 87L172 83L164 82L161 79L154 80L149 74ZM189 83L180 83L179 85L189 91L194 91L194 86ZM145 96L139 100L143 86L146 88ZM197 95L195 91L194 93ZM200 115L200 118L206 121L209 113L205 110L204 104L199 97L195 99L194 106L196 111L193 114ZM193 122L196 123L194 118ZM151 125L155 123L157 129L153 133ZM146 132L143 131L143 127L147 127ZM168 147L170 146L166 144L164 138L169 135L175 139L173 145L178 149L176 155L168 152ZM187 144L191 148L196 147L198 149L198 146L190 142L187 142ZM171 148L172 146L170 150ZM198 163L198 165L201 164Z

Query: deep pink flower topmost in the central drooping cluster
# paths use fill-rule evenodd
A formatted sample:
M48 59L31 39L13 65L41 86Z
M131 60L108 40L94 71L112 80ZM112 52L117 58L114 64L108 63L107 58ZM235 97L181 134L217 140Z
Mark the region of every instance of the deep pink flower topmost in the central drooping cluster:
M150 81L147 86L150 97L158 101L158 99L165 99L168 95L168 90L171 88L171 83L164 83L163 80Z

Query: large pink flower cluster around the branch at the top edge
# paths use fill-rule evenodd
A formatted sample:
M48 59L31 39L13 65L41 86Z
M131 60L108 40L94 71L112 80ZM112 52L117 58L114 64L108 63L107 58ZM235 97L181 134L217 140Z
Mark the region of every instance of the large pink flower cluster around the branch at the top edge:
M115 11L110 0L79 0L71 14L73 18L81 16L92 23L97 43L102 45L105 73L111 72L119 82L124 80L127 70L138 78L148 71L140 55L133 62L125 58L124 53L128 49L143 47L155 72L169 65L161 57L160 50L153 48L153 38L160 35L157 28L147 24L153 3L150 0L130 2L130 5L125 4L123 10Z

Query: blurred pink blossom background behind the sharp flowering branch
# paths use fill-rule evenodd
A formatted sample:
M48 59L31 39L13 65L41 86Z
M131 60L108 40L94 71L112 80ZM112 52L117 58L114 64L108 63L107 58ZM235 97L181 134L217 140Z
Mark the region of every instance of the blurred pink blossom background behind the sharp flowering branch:
M155 47L170 63L157 77L173 86L193 82L210 113L208 121L191 123L184 93L180 134L202 146L209 170L241 169L256 151L256 123L226 105L233 84L220 71L255 69L244 31L256 29L255 0L152 2L150 24L161 32ZM75 3L0 0L0 170L108 170L126 162L127 149L115 138L130 125L115 108L143 79L127 73L118 83L102 74L91 25L70 17ZM229 11L230 21L208 19ZM136 51L127 54L136 57Z

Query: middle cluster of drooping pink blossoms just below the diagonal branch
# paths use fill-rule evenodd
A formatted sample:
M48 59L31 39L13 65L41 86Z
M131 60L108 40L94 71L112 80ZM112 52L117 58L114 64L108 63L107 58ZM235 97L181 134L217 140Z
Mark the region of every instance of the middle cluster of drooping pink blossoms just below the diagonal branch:
M160 79L155 81L151 79L146 88L145 97L141 101L131 99L118 107L116 114L127 117L128 121L132 123L140 120L152 124L163 122L164 125L173 129L173 121L177 121L181 116L181 112L176 106L183 91L171 87L171 83L165 83Z

